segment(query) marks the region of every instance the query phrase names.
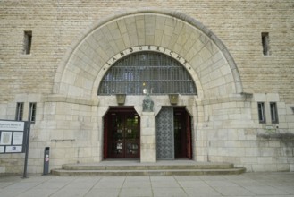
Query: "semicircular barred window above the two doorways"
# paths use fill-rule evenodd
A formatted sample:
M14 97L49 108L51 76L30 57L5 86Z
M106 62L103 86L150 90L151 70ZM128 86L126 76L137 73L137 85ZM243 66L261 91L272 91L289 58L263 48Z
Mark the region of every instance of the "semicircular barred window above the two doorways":
M117 61L105 73L98 95L150 94L196 95L197 89L187 70L175 59L156 52L139 52Z

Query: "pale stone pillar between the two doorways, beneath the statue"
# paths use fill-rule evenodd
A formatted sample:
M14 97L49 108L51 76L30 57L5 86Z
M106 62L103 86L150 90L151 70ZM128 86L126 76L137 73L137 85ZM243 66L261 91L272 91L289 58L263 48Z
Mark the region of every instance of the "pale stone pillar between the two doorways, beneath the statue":
M155 113L142 112L140 138L140 161L156 162Z

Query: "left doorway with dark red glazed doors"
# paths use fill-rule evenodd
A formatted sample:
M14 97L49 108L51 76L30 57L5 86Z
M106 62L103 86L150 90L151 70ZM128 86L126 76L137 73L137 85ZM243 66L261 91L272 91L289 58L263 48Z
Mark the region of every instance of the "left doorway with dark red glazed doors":
M133 107L110 108L104 124L104 158L139 158L140 118Z

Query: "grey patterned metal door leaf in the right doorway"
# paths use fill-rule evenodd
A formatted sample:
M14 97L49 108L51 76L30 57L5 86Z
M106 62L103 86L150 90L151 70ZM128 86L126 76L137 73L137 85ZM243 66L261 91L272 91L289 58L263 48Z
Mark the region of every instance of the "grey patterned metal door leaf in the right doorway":
M156 116L156 157L157 159L174 159L172 107L163 107Z

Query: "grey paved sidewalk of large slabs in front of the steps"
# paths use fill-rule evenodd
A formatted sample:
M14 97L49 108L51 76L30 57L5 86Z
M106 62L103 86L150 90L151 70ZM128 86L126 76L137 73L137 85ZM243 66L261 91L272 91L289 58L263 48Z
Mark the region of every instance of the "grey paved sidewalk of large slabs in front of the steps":
M0 175L0 196L293 196L294 173L238 176Z

